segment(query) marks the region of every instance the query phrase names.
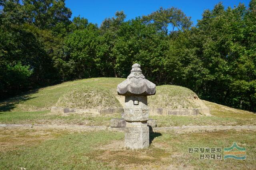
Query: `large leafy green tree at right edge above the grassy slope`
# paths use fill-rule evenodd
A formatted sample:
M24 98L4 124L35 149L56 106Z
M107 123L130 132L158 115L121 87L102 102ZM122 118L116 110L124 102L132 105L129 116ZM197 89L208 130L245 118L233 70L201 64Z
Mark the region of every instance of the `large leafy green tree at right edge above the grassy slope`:
M201 90L195 91L206 100L252 109L256 79L255 53L252 52L255 38L248 18L252 11L244 4L224 10L219 3L212 11L206 10L198 21L194 41L198 42L198 57L208 73L202 77Z

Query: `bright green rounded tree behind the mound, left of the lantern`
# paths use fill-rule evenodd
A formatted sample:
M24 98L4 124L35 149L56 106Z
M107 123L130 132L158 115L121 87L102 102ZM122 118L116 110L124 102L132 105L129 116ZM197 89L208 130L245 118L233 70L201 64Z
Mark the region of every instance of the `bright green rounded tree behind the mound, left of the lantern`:
M77 78L95 76L94 60L96 59L97 37L99 35L96 25L89 24L86 29L76 30L66 37L66 60L74 64Z

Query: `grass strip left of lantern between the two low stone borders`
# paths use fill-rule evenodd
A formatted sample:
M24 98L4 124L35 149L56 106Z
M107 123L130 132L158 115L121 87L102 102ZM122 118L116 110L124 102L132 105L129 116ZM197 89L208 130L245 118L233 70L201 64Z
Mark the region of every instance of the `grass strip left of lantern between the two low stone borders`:
M46 124L46 125L87 125L110 126L110 119L120 118L120 114L92 115L70 113L50 113L49 111L0 112L1 124Z

